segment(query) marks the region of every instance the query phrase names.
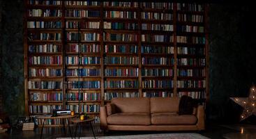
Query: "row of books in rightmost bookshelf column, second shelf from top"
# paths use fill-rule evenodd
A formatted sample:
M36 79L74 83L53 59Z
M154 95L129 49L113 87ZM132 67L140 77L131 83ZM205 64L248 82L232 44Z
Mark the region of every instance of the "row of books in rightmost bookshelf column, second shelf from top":
M191 14L177 14L177 20L179 22L196 22L196 23L203 23L204 22L204 15L191 15Z

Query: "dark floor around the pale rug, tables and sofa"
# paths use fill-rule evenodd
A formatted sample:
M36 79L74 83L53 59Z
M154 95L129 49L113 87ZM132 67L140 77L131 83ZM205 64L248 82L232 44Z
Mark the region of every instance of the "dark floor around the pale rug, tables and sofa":
M110 131L103 133L100 131L99 126L93 126L96 136L122 136L122 135L135 135L135 134L147 134L147 133L176 133L176 132L152 132L152 131ZM71 126L71 131L75 131L75 126ZM256 138L256 125L253 124L209 124L205 131L197 133L202 134L212 139L232 138L232 139L247 139ZM186 132L186 131L184 131ZM191 132L191 131L187 131ZM47 127L43 131L43 138L55 139L58 137L70 136L68 129L66 129L66 135L60 127ZM82 136L93 136L89 126L82 126ZM9 133L0 133L1 139L13 138L13 139L36 139L40 138L40 128L36 128L33 131L22 131L20 129L13 128Z

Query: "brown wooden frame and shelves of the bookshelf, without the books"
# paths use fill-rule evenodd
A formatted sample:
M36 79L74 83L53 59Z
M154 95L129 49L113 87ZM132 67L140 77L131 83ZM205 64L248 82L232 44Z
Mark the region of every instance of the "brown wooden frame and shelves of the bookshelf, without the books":
M142 2L138 2L138 7L132 7L132 8L127 8L127 7L121 7L121 6L104 6L103 2L100 3L100 6L66 6L66 1L61 1L61 5L58 6L43 6L43 5L29 5L28 4L29 0L26 0L24 2L25 4L25 14L24 14L24 93L25 93L25 113L26 115L31 115L31 113L29 113L29 104L30 103L37 103L37 104L60 104L63 106L63 108L66 108L67 104L78 104L77 101L68 101L66 100L66 94L71 90L71 91L77 91L76 89L68 89L66 86L66 82L69 80L74 80L77 79L76 76L66 76L66 69L68 68L77 68L77 65L67 65L66 64L66 56L75 56L75 53L68 53L66 51L66 46L69 43L77 43L75 41L68 41L66 40L66 33L67 32L77 32L77 28L67 28L66 26L66 21L83 21L83 22L99 22L99 28L81 28L81 32L83 33L99 33L99 41L96 42L84 42L82 41L81 44L98 44L100 47L100 52L98 53L84 53L82 55L84 56L98 56L100 57L100 64L96 64L96 65L82 65L81 67L84 68L95 68L100 70L100 76L85 76L85 77L81 77L82 80L84 81L100 81L100 88L95 88L95 89L81 89L82 92L84 91L96 91L96 92L100 92L100 101L96 100L96 101L83 101L84 104L89 103L89 104L100 104L101 106L103 106L104 104L110 102L104 99L105 97L105 92L110 92L110 91L116 91L116 92L137 92L138 93L138 97L143 97L143 92L145 91L165 91L165 89L168 92L172 92L172 95L174 97L178 96L179 93L179 89L177 88L177 81L179 79L178 77L178 73L177 70L181 67L180 65L178 65L178 58L205 58L205 66L184 66L184 68L190 68L190 69L204 69L205 70L205 76L202 77L203 80L205 80L206 82L206 86L205 88L184 88L184 90L204 90L205 91L205 95L206 95L206 100L209 100L209 32L208 32L208 5L204 4L204 3L199 3L202 4L202 6L204 6L204 12L200 13L200 12L190 12L192 15L193 14L197 14L197 15L203 15L204 16L204 22L203 23L199 23L200 26L204 26L204 33L180 33L177 31L177 24L185 24L185 25L192 25L192 26L199 26L197 23L193 23L193 22L178 22L178 10L177 10L177 3L173 2L173 9L153 9L153 8L141 8L141 4ZM136 2L136 1L135 1ZM28 9L32 9L32 8L41 8L41 9L59 9L62 12L61 17L29 17L27 15L27 10ZM67 9L77 9L77 10L97 10L99 12L99 17L66 17L65 13ZM137 15L137 18L135 19L121 19L121 18L111 18L111 17L105 17L104 12L105 11L112 11L112 10L116 10L116 11L131 11L131 12L135 12ZM172 20L161 20L161 19L142 19L142 12L150 12L150 13L171 13L173 15L173 19ZM179 13L183 13L183 12L179 12ZM186 12L184 12L186 13ZM61 22L61 28L28 28L27 27L27 21L60 21ZM124 29L105 29L104 28L104 22L129 22L129 23L136 23L137 24L137 29L135 30L124 30ZM142 30L142 24L170 24L173 26L173 31L151 31L151 30ZM28 87L28 82L29 79L33 79L31 77L29 77L29 51L28 51L28 47L29 44L37 44L43 41L32 41L29 42L28 40L28 33L29 32L43 32L43 33L47 33L47 32L60 32L61 33L61 41L60 42L52 42L52 43L57 43L57 44L61 44L61 54L43 54L43 56L45 55L61 55L62 56L62 65L61 65L61 69L62 69L62 74L63 76L59 77L59 78L45 78L47 79L54 79L54 80L61 80L62 81L62 89L59 90L62 92L63 95L63 100L62 101L29 101L29 87ZM121 42L121 41L105 41L103 38L103 33L122 33L122 34L126 34L126 33L133 33L137 35L137 41L135 42ZM153 34L153 35L170 35L172 34L173 36L173 42L142 42L142 34ZM204 56L193 56L193 55L182 55L182 54L177 54L177 49L179 47L180 44L178 44L177 42L177 35L191 35L191 36L203 36L205 38L205 44L202 44L202 47L204 47L204 51L205 51L205 55ZM45 42L49 42L51 43L51 41L45 41ZM105 54L105 44L128 44L128 45L137 45L137 53L136 54L123 54L123 53L113 53L113 54ZM173 47L174 49L174 54L142 54L142 46L144 45L151 45L151 46L158 46L161 45L162 47ZM191 47L197 47L197 45L199 44L189 44L186 43L186 46L191 46ZM39 54L40 55L40 54ZM138 58L138 65L121 65L121 64L115 64L115 65L106 65L105 64L105 57L106 56L132 56L132 57L137 57ZM174 59L174 65L142 65L142 58L144 56L147 57L164 57L164 58L173 58ZM36 67L36 65L33 65L34 67ZM52 67L57 67L57 65L51 65ZM38 65L38 67L40 67L40 65ZM46 66L47 67L47 66ZM107 69L108 67L113 67L113 68L137 68L138 69L138 75L137 76L128 76L128 77L123 77L123 76L105 76L105 69ZM142 75L142 69L146 67L146 68L154 68L154 67L158 67L160 69L169 69L172 70L172 76L143 76ZM38 80L44 80L43 77L35 77L34 79L38 79ZM169 79L172 80L173 83L173 88L142 88L142 82L145 79ZM186 77L184 78L185 80L189 80L189 79L193 79L190 77ZM195 78L198 79L198 78ZM138 82L138 87L137 88L104 88L104 82L107 80L136 80ZM39 90L39 91L43 91L43 90ZM54 90L52 90L54 91ZM199 101L204 101L204 100L199 100ZM37 105L36 104L36 105ZM97 115L97 113L91 113L92 115Z

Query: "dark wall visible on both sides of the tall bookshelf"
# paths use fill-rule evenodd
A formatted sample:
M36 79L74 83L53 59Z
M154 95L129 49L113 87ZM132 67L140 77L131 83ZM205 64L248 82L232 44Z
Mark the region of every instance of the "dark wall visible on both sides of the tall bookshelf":
M256 83L253 10L250 6L210 4L209 120L238 122L242 109L229 97L246 97ZM15 120L24 115L23 1L0 1L0 13L0 92L4 111Z

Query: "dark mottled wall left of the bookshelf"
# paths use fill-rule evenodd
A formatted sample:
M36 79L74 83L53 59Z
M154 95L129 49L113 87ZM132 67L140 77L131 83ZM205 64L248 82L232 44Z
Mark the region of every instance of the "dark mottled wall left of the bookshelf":
M24 115L24 1L1 1L1 93L11 120Z

